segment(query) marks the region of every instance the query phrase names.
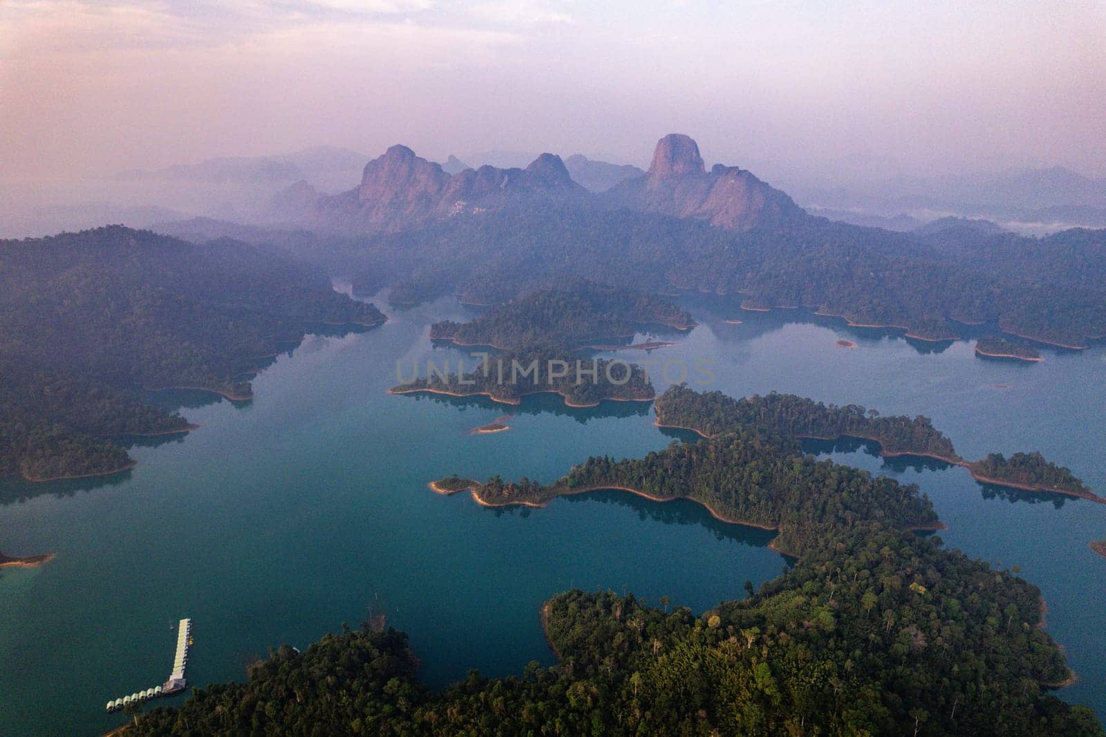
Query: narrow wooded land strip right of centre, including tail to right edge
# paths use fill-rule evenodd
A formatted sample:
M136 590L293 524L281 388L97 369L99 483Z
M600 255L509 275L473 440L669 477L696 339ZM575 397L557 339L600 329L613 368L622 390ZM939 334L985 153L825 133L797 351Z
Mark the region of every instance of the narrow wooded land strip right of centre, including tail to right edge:
M991 454L978 461L957 455L952 442L928 417L884 417L859 405L826 405L772 392L735 399L721 392L699 393L684 384L657 397L657 424L713 437L741 428L760 428L789 438L875 440L886 456L919 456L963 466L979 481L1030 491L1050 491L1106 502L1072 471L1045 460L1040 453L1016 453L1006 459Z

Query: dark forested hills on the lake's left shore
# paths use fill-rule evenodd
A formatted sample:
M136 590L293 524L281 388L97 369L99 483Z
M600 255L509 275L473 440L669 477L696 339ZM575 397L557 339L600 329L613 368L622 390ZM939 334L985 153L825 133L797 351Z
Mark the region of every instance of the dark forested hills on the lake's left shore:
M233 241L108 226L0 241L0 476L112 474L106 439L191 428L142 391L252 396L240 381L313 324L379 324L310 267Z

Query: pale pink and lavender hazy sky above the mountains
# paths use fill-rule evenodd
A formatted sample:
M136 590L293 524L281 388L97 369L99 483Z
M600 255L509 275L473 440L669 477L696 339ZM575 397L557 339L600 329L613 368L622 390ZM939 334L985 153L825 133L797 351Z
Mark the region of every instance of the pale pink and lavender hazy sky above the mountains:
M1104 2L0 0L0 175L310 145L1106 175Z

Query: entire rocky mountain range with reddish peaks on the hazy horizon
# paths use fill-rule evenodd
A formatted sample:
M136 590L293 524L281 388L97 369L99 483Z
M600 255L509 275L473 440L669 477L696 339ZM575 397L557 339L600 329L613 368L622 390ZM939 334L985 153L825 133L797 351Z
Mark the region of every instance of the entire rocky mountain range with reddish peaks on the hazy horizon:
M272 217L334 232L396 232L534 201L628 208L735 230L807 217L750 172L719 164L708 173L696 142L681 134L657 143L648 172L573 157L591 188L574 180L554 154L542 154L525 168L461 168L456 157L447 164L452 173L396 145L369 162L361 185L348 191L326 196L304 181L281 190L272 199Z

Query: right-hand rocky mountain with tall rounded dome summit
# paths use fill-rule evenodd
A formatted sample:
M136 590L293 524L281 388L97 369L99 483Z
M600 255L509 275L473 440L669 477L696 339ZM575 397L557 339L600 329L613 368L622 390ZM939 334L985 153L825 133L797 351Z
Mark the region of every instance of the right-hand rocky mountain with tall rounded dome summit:
M657 142L644 177L614 187L606 197L632 209L697 218L731 230L780 226L806 215L791 197L750 172L718 164L708 173L699 146L680 134Z

